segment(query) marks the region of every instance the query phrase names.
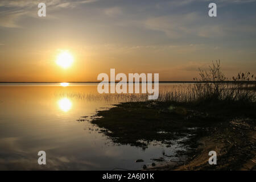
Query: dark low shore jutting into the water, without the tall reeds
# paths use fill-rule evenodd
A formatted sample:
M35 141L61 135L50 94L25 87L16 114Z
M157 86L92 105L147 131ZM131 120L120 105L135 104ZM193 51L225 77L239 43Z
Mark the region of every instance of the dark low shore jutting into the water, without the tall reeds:
M114 143L147 148L152 141L171 146L180 141L187 150L178 163L146 166L149 170L255 170L255 103L127 102L98 111L91 121ZM217 165L209 165L209 151Z

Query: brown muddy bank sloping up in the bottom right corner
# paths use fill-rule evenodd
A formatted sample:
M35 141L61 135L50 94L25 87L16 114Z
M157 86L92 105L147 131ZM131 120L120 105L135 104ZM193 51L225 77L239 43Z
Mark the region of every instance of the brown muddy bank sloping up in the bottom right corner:
M180 152L187 155L182 164L166 165L154 170L255 170L255 120L233 119L220 123L209 134L199 138L197 147ZM217 152L217 165L209 165L208 152Z

